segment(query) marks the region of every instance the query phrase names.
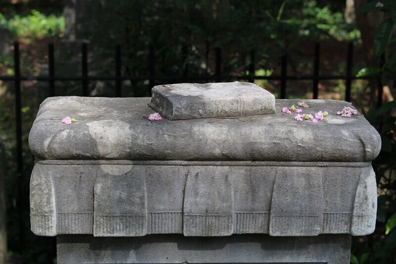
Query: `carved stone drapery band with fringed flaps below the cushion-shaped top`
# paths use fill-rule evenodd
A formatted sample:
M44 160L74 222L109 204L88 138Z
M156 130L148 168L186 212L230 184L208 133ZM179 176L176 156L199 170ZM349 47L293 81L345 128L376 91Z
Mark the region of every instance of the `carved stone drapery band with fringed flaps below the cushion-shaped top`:
M315 236L373 232L370 162L42 160L38 235Z

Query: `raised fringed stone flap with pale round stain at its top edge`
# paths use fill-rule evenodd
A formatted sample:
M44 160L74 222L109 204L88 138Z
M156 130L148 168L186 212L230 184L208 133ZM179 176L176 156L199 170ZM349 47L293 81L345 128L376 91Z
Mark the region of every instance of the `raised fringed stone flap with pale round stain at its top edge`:
M147 234L144 170L136 166L100 166L94 189L94 236Z

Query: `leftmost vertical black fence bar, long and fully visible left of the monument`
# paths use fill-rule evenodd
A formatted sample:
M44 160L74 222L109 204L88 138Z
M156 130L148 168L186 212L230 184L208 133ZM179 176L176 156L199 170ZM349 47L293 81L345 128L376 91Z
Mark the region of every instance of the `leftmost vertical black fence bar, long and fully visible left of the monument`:
M22 112L21 112L21 69L19 43L14 43L14 77L15 77L15 115L16 115L16 163L18 182L18 213L19 213L19 247L25 248L25 195L23 189L23 159L22 159Z

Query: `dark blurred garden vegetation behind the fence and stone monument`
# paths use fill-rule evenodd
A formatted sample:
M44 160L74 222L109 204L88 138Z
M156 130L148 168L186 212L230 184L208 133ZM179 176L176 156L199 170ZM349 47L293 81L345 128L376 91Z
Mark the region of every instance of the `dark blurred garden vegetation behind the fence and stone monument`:
M353 42L353 74L381 74L383 106L377 109L377 79L354 80L352 103L381 133L383 147L373 162L378 183L376 231L352 238L351 263L396 262L396 147L394 0L2 0L0 75L13 75L12 43L20 42L23 76L48 75L47 44L55 45L55 75L79 76L81 43L89 47L89 74L114 75L114 46L122 47L122 74L148 74L148 47L155 47L155 75L213 74L215 48L222 50L223 75L279 75L288 56L288 74L313 71L314 43L321 44L321 75L346 72L347 42ZM188 47L183 50L183 46ZM255 56L251 57L254 50ZM386 63L378 67L384 54ZM166 80L158 80L166 83ZM256 80L279 95L280 82ZM126 80L123 96L147 96L148 80ZM114 96L114 82L90 81L91 96ZM14 84L0 81L0 137L6 154L8 255L12 263L55 262L55 240L34 236L25 213L25 245L20 245L17 208ZM29 129L46 82L22 83L24 191L29 193L33 157ZM55 83L56 95L82 95L79 82ZM320 81L319 98L344 100L345 81ZM312 98L311 81L288 81L287 98Z

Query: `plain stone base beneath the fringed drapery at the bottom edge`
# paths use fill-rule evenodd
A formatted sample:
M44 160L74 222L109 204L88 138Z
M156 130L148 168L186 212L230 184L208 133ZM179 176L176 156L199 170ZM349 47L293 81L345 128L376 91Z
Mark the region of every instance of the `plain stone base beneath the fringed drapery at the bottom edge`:
M143 237L58 235L57 263L328 263L349 264L350 235Z

